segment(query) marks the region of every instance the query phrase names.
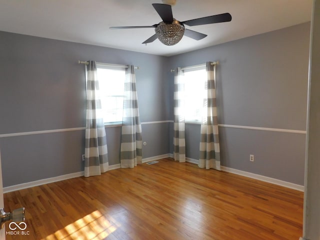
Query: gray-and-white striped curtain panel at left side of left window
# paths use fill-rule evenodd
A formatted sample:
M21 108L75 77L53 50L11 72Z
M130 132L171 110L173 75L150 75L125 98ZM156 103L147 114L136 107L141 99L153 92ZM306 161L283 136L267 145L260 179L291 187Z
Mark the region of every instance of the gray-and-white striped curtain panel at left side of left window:
M95 61L88 62L89 64L86 65L84 176L93 176L107 171L109 164Z

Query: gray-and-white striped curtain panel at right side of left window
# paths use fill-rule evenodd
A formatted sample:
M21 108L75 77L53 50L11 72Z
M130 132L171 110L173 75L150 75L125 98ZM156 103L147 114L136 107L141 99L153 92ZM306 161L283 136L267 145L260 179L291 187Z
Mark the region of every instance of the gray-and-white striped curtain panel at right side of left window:
M120 162L122 168L142 163L141 123L132 65L125 72Z

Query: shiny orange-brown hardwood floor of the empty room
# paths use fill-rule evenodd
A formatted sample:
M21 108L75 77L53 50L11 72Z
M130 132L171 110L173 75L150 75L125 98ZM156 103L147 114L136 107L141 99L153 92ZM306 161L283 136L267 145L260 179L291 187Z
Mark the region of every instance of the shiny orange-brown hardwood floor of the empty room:
M303 192L170 158L5 193L4 206L26 211L24 234L7 240L302 235Z

